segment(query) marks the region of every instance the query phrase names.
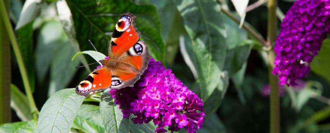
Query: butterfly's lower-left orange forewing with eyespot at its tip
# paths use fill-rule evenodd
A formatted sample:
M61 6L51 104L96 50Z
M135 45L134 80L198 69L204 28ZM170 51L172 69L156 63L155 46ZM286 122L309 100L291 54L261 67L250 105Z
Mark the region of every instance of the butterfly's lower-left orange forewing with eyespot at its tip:
M76 88L77 94L87 97L90 92L105 90L111 86L111 71L103 66L84 78Z

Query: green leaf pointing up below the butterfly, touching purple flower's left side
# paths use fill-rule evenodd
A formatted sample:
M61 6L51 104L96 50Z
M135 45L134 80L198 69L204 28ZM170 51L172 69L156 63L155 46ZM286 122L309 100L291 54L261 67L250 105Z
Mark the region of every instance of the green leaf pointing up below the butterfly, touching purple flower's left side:
M119 105L109 94L110 89L103 92L100 102L100 111L103 125L107 133L128 133L129 119L123 118Z

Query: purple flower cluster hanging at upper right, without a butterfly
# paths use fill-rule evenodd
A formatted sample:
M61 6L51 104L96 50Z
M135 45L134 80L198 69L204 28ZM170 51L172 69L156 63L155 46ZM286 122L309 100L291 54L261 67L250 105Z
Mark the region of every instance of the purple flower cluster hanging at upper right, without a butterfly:
M275 67L281 85L307 77L310 62L330 33L329 0L297 0L287 11L275 41Z

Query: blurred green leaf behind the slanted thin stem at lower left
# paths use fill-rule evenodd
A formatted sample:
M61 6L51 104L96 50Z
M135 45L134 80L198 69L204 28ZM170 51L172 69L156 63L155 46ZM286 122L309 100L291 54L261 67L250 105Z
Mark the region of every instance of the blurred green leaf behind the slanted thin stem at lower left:
M16 115L21 121L33 119L25 94L23 94L14 84L10 85L10 107L15 110Z

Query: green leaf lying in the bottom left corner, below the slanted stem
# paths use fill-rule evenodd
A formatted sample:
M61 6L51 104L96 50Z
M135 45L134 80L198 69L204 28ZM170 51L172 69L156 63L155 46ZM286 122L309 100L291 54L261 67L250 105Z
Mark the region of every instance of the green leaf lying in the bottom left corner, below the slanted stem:
M0 133L34 133L36 124L35 120L1 124Z

